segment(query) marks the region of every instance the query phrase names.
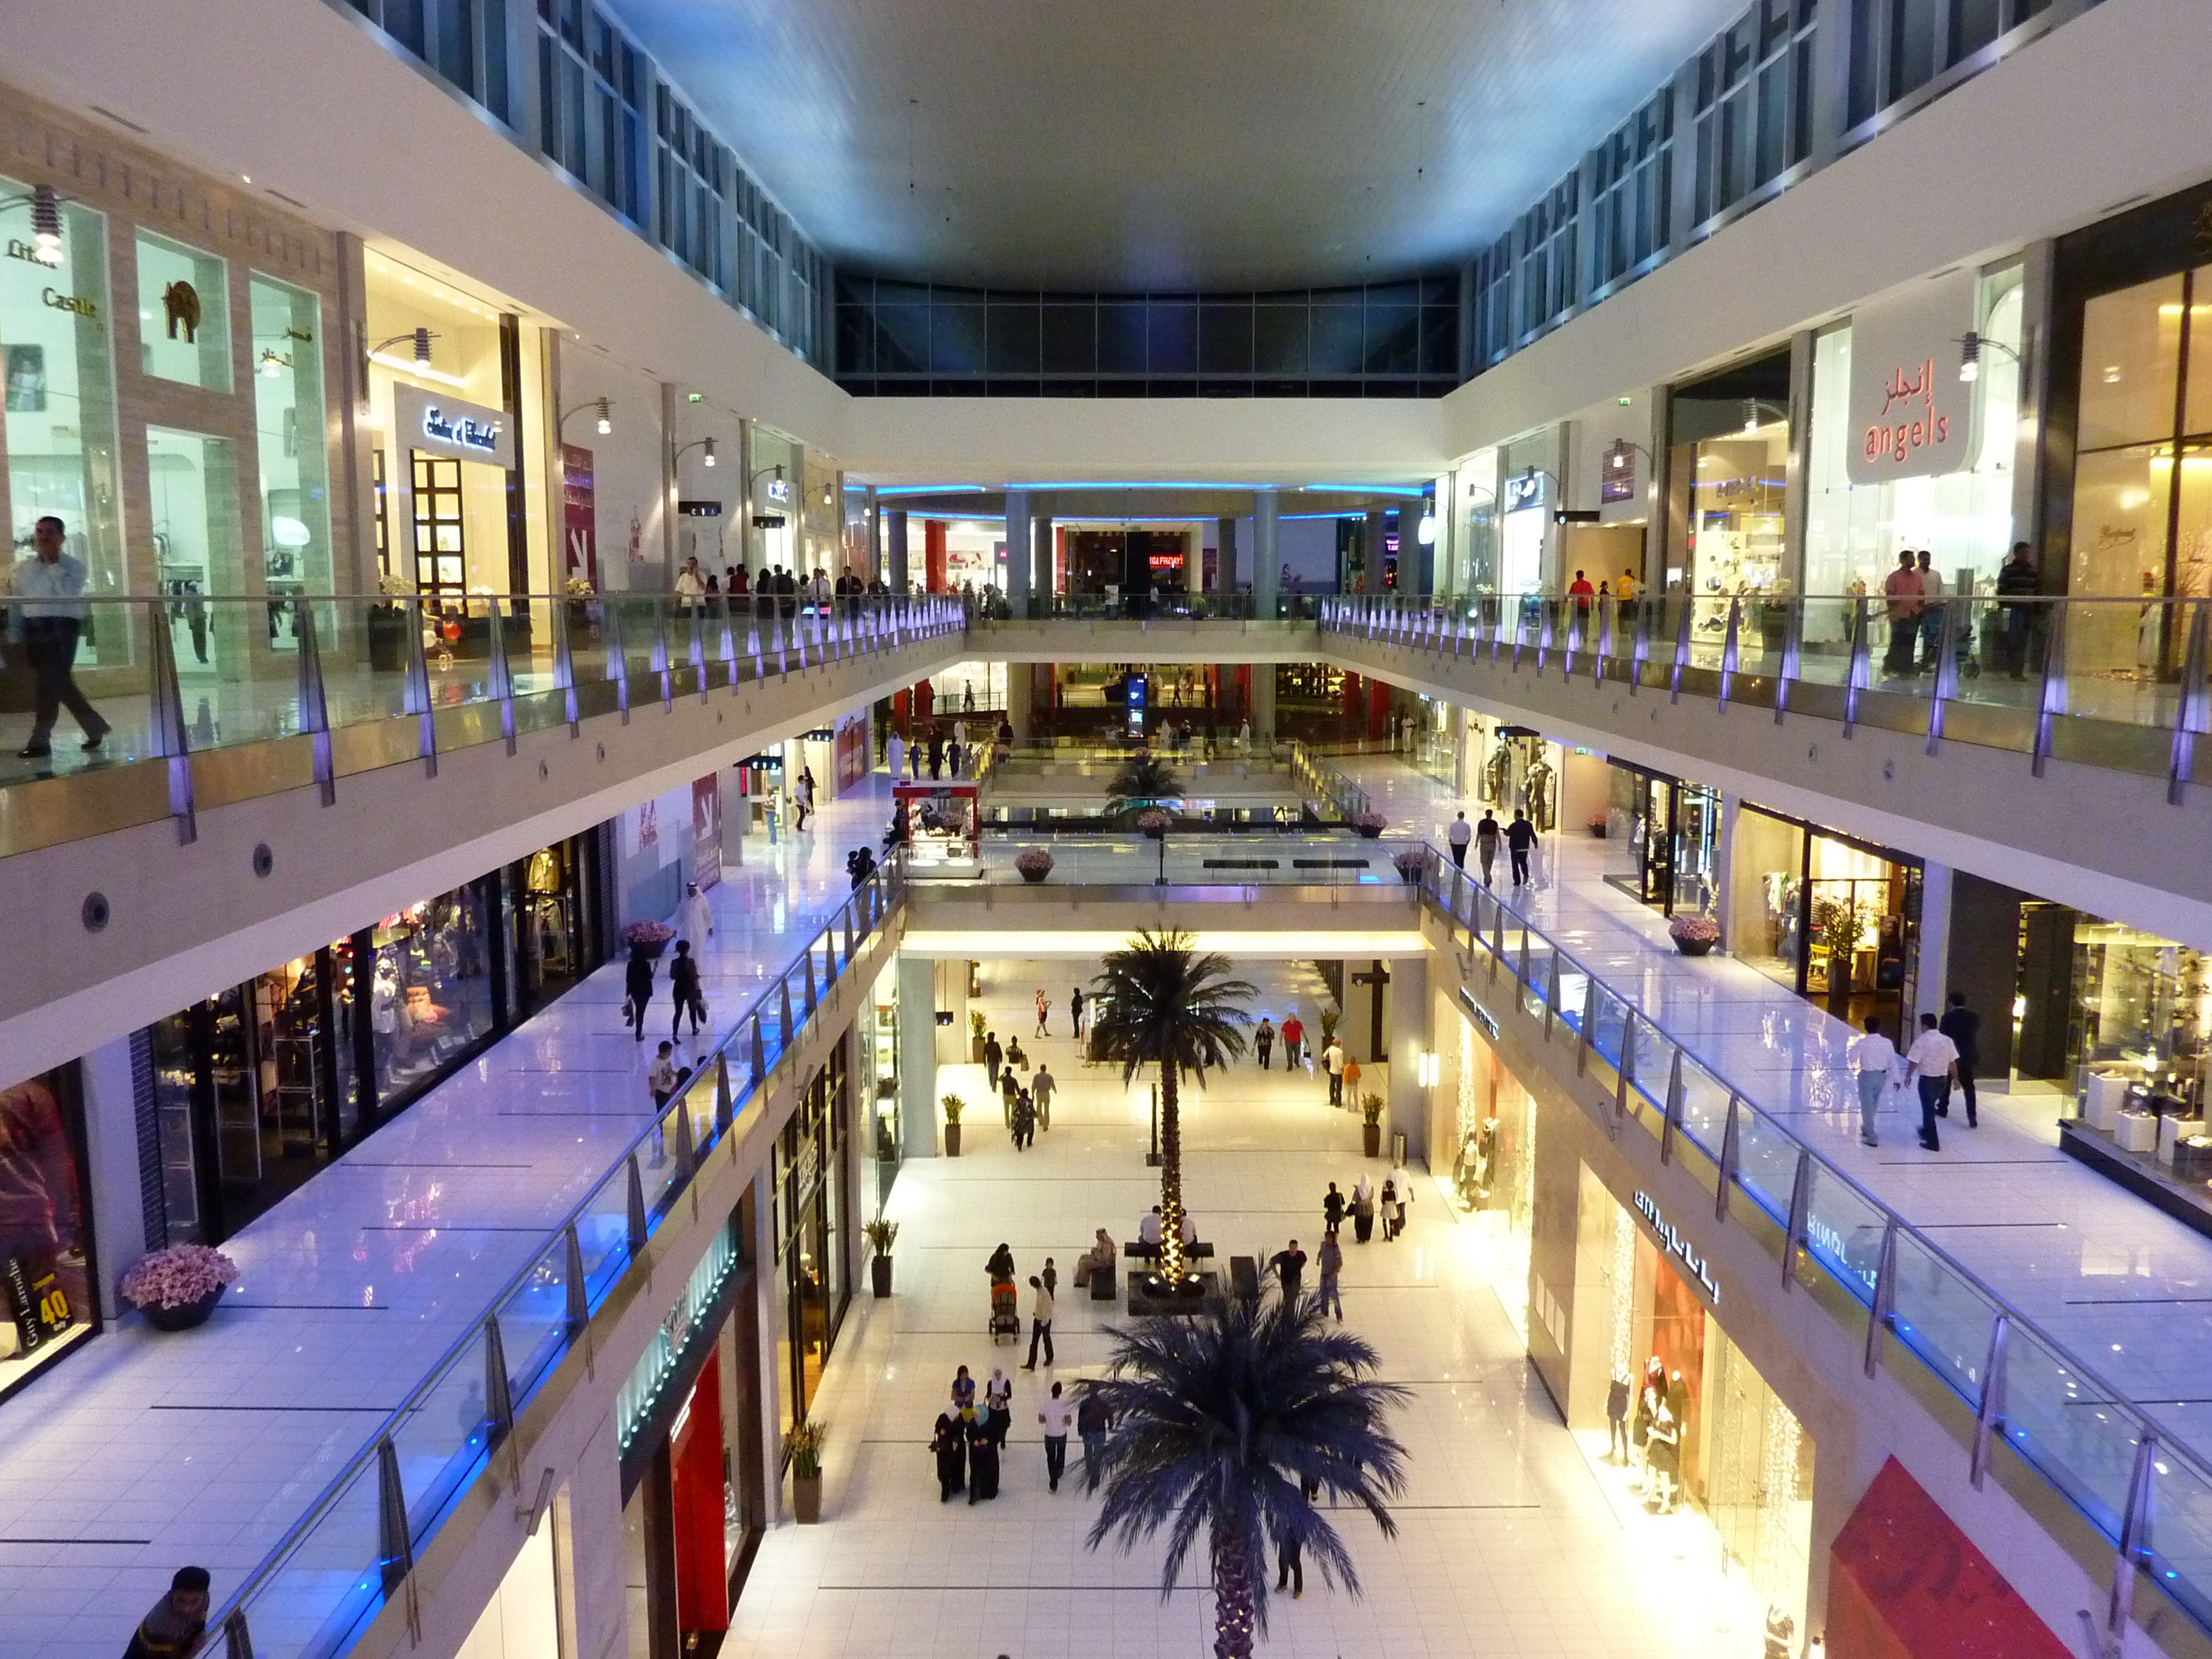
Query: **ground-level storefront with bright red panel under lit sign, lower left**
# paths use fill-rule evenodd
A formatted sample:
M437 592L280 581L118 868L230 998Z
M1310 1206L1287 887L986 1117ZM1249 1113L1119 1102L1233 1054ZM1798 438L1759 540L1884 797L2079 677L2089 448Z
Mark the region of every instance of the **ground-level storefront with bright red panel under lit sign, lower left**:
M615 1396L630 1652L712 1648L768 1531L752 1194Z

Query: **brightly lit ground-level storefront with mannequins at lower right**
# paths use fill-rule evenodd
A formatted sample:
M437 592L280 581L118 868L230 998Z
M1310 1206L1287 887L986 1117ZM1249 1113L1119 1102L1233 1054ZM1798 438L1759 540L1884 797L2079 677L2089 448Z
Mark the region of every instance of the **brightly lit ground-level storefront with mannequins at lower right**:
M1739 1599L1717 1624L1747 1659L1754 1632L1807 1628L1812 1436L1730 1340L1732 1287L1694 1225L1577 1168L1568 1429L1626 1526L1686 1557L1717 1546Z

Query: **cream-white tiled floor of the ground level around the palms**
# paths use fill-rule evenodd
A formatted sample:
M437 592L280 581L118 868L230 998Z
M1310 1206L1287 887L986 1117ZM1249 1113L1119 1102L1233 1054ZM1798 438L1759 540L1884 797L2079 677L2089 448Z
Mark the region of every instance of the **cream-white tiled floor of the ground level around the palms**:
M1157 1199L1144 1166L1146 1095L1084 1071L1066 1035L1066 962L984 962L987 1009L1062 1091L1053 1128L1015 1152L995 1110L964 1119L960 1159L914 1159L891 1192L900 1221L898 1294L856 1303L830 1360L816 1418L830 1425L821 1526L779 1526L739 1601L732 1648L781 1659L1057 1659L1060 1655L1208 1652L1212 1601L1203 1564L1166 1604L1157 1546L1124 1557L1084 1548L1097 1500L1077 1482L1048 1493L1035 1400L1106 1356L1113 1303L1071 1285L1091 1228L1126 1239ZM1292 995L1307 1020L1318 978L1287 967L1250 973L1281 1020ZM1053 1031L1035 1042L1035 984L1053 989ZM940 1091L982 1095L975 1066L940 1068ZM1358 1119L1327 1106L1325 1084L1250 1062L1190 1099L1186 1190L1221 1254L1270 1254L1296 1234L1312 1252L1321 1194L1349 1190L1360 1168ZM1026 1279L1044 1256L1062 1272L1057 1371L1013 1369L1022 1347L984 1336L984 1259L1011 1243ZM1559 1425L1489 1283L1482 1228L1455 1219L1422 1183L1398 1243L1347 1243L1345 1312L1383 1354L1385 1376L1413 1402L1396 1431L1411 1482L1400 1535L1338 1515L1365 1582L1352 1599L1307 1577L1303 1599L1270 1601L1267 1652L1340 1655L1697 1655L1759 1652L1741 1575L1717 1568L1712 1533L1681 1515L1646 1517ZM929 1427L956 1365L1015 1378L1015 1429L1002 1495L940 1506ZM1079 1447L1073 1460L1079 1467Z

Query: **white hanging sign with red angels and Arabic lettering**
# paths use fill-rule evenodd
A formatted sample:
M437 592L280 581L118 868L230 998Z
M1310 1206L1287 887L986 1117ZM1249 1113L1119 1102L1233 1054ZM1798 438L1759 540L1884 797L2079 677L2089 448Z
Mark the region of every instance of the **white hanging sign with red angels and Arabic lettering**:
M1916 283L1851 316L1854 484L1933 478L1973 462L1975 387L1958 378L1960 341L1973 327L1971 272Z

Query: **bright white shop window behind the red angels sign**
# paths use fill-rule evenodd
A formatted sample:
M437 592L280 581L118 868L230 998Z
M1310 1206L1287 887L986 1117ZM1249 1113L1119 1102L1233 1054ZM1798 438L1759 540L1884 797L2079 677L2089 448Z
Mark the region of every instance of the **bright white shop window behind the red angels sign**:
M1973 422L1971 460L1960 471L1851 484L1851 327L1814 341L1812 434L1805 495L1805 595L1827 599L1807 615L1812 646L1849 644L1843 597L1880 595L1905 549L1933 553L1949 593L1995 593L2013 544L2013 478L2020 436L2022 270L1980 279L1980 374L1953 385ZM1955 374L1938 363L1942 376ZM2168 416L2172 411L2168 409Z

